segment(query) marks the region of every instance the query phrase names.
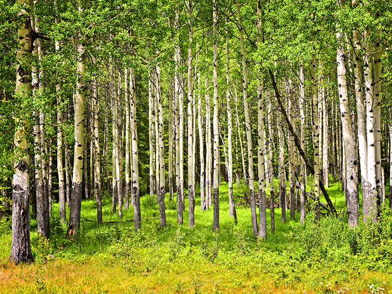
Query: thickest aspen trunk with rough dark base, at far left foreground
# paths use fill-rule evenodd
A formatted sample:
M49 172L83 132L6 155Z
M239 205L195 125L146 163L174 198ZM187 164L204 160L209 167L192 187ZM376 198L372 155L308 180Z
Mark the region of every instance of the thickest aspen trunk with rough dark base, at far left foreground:
M17 73L15 94L24 96L31 91L31 36L29 8L30 0L18 0L18 17L21 26L18 27L16 51ZM29 201L29 145L26 140L28 121L18 120L18 128L15 131L14 145L20 151L19 160L14 163L15 173L12 180L12 241L9 260L18 264L30 263L30 201Z

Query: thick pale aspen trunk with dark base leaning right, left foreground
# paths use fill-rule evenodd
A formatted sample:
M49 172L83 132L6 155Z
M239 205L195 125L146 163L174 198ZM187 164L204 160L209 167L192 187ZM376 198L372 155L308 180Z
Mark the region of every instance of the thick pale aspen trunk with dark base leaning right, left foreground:
M84 98L85 98L85 49L83 43L77 45L77 80L75 98L75 145L73 157L73 178L71 193L70 219L68 222L67 237L78 232L80 227L80 210L82 203L83 180L83 148L84 148Z

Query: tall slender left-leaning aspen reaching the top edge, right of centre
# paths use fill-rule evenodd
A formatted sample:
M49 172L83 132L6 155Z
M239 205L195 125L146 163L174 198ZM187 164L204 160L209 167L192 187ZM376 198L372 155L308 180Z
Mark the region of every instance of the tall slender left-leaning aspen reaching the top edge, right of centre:
M240 33L241 43L241 61L242 61L242 88L244 98L244 112L245 112L245 128L246 128L246 140L248 147L248 173L249 173L249 197L250 197L250 213L252 218L252 229L253 236L257 236L257 220L256 220L256 201L255 201L255 190L254 190L254 176L253 176L253 150L252 150L252 134L250 128L249 118L249 107L247 101L247 73L246 73L246 60L245 60L245 45L243 37L243 27L241 22L240 5L238 0L236 1L237 7L237 21Z

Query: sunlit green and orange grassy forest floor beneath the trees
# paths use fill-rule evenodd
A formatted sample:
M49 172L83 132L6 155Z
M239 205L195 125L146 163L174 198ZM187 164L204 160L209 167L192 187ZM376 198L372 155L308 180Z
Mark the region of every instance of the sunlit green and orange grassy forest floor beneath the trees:
M243 196L246 188L234 191ZM30 265L8 262L11 232L9 221L1 220L0 293L392 293L390 212L377 224L348 228L340 184L330 185L328 192L338 217L322 215L316 224L308 207L305 224L299 224L299 212L290 220L289 210L281 223L276 208L275 233L270 233L267 209L266 241L253 237L246 205L237 206L237 226L228 217L224 184L217 232L212 231L212 208L201 212L199 199L194 228L188 228L187 209L184 224L176 223L175 199L166 201L168 225L160 228L155 199L143 196L142 230L134 234L133 210L123 210L120 221L106 195L104 222L94 221L95 201L84 200L80 235L68 240L67 225L53 204L49 240L37 237L31 221L35 262Z

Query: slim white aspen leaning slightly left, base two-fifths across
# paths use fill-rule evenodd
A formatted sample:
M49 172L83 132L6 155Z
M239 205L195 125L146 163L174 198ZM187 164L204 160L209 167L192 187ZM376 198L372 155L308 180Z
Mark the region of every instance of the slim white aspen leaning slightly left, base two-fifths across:
M156 77L156 101L158 110L158 146L159 146L159 224L161 227L166 226L166 211L165 211L165 146L163 144L163 110L162 110L162 100L161 100L161 72L159 69L159 63L155 67L155 77ZM157 166L158 169L158 166Z

